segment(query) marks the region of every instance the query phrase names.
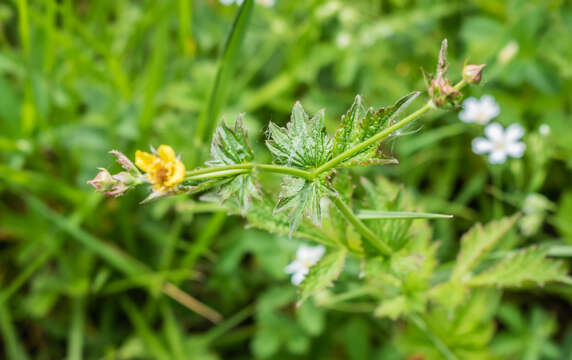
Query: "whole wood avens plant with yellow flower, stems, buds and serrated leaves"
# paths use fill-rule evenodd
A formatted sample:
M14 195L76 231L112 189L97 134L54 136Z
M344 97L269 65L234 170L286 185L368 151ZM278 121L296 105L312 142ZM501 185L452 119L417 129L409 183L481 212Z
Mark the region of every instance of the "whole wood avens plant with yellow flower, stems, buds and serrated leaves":
M145 201L182 193L206 193L201 199L219 201L254 227L326 245L326 254L300 284L300 302L337 279L348 255L361 259L364 278L362 287L345 296L344 301L368 296L378 304L377 315L392 318L424 313L428 300L460 306L473 288L520 286L528 281L569 281L560 264L546 259L546 251L540 248L514 253L496 267L473 273L510 229L515 221L511 218L484 228L478 226L466 234L449 279L436 282L435 243L430 242L430 231L424 221L413 227L412 221L449 216L413 212L415 207L407 203L409 200L400 191L387 193L395 186L384 179L362 180L365 198L354 199L354 184L347 169L396 164L396 159L382 151L380 145L385 140L397 136L400 129L429 111L457 105L461 89L467 83L480 82L484 65L467 65L463 79L451 84L446 78L446 47L443 41L436 76L426 75L430 99L407 116L403 116L404 110L420 92L412 92L380 109L366 107L358 95L342 116L338 130L330 136L324 126L324 111L310 117L297 102L286 127L269 124L266 145L273 156L272 164L255 161L239 117L233 126L222 123L216 129L210 159L204 167L185 170L173 149L161 145L152 153L138 151L135 164L123 154L113 152L125 171L111 175L101 169L90 183L112 196L149 184L152 192ZM261 188L257 181L259 172L282 177L282 189L277 196ZM516 276L518 271L513 268L524 261L534 263L537 272L523 270L526 274ZM543 271L547 268L550 271ZM327 306L338 300L322 293L318 302ZM410 320L416 324L423 321Z

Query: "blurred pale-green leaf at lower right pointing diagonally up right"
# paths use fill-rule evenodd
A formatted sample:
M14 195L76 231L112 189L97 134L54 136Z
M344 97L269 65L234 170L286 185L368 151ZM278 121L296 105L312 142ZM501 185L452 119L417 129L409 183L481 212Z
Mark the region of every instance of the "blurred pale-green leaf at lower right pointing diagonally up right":
M476 224L461 238L461 250L453 269L451 281L464 278L493 249L499 240L513 227L518 215L491 221L485 226Z

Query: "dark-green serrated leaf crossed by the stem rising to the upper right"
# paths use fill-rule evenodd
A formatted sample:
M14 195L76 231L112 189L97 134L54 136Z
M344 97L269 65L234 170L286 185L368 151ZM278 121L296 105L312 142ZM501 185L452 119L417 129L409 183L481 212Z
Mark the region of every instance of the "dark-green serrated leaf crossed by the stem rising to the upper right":
M343 153L392 125L399 113L418 95L419 92L413 92L397 100L395 104L377 111L371 107L366 110L361 96L357 95L348 112L342 116L340 127L334 135L333 156ZM385 157L378 151L377 146L378 144L374 144L365 148L352 158L342 162L339 167L396 162L393 158Z

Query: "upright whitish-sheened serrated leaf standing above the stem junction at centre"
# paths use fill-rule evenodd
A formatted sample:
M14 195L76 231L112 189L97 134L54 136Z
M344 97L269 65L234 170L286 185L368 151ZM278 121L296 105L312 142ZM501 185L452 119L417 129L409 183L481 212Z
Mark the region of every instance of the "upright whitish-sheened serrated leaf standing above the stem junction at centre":
M270 139L266 146L277 164L315 168L331 157L332 141L326 134L324 111L309 119L300 102L292 109L286 128L269 125Z

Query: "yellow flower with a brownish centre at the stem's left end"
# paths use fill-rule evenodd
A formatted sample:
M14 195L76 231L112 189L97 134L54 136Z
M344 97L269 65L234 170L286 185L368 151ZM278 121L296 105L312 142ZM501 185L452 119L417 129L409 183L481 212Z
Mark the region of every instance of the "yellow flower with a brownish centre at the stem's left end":
M160 192L170 190L185 177L185 165L176 158L175 151L169 145L159 146L156 154L137 150L135 165L147 173L153 188Z

